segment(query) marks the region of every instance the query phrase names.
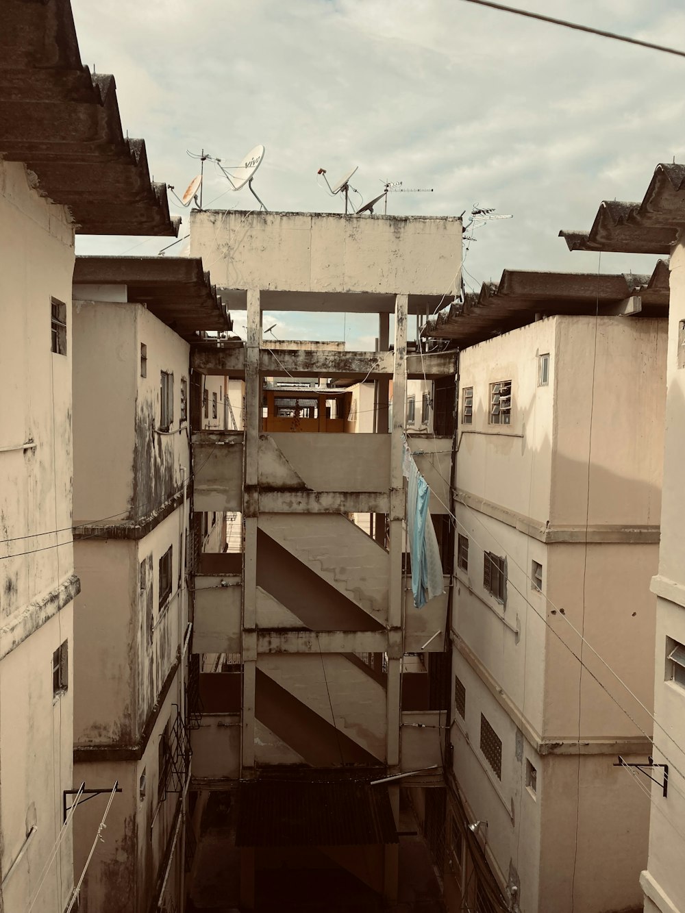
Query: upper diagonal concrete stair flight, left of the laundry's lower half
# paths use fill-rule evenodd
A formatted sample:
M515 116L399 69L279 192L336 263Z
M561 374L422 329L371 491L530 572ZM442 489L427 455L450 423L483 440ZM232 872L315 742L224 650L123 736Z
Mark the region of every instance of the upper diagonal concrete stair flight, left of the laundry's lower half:
M273 540L377 621L387 621L387 551L342 514L261 514Z

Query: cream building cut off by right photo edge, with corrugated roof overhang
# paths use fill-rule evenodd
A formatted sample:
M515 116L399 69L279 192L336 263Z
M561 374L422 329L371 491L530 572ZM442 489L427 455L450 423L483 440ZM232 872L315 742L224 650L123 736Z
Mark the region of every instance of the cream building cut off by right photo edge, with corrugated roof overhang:
M670 256L665 449L654 665L654 734L641 768L626 768L650 794L648 866L640 875L645 913L685 909L685 560L680 481L685 436L685 165L659 164L641 203L605 201L587 233L562 232L572 250ZM644 660L643 660L644 661ZM654 766L650 766L653 762ZM666 774L668 772L668 783ZM647 776L655 782L649 782ZM636 788L635 783L628 783Z

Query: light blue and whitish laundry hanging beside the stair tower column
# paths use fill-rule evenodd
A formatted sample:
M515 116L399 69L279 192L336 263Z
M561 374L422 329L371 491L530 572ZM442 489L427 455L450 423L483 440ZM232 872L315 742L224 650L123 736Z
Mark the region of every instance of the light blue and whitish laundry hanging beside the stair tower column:
M412 559L412 592L417 609L443 593L442 561L437 546L436 530L430 519L428 500L430 488L418 471L414 457L405 444L403 473L408 481L406 498L406 528Z

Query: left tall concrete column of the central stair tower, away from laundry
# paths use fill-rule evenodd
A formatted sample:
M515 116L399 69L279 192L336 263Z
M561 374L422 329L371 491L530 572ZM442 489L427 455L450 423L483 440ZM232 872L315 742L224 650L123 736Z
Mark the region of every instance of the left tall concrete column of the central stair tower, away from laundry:
M245 349L245 465L243 467L243 729L242 768L255 764L255 678L257 675L257 522L259 513L258 446L261 430L261 307L259 289L248 289L247 343Z

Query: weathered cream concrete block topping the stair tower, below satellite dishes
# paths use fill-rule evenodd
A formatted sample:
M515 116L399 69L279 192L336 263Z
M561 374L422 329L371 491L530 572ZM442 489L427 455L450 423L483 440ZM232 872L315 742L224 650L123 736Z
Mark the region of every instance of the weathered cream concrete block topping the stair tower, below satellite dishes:
M460 266L461 220L194 211L190 240L230 289L442 295Z

